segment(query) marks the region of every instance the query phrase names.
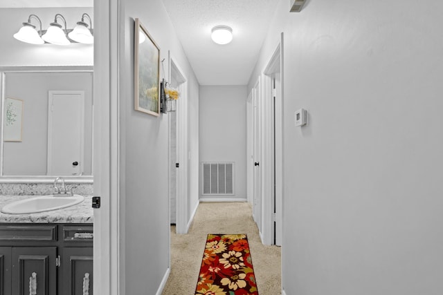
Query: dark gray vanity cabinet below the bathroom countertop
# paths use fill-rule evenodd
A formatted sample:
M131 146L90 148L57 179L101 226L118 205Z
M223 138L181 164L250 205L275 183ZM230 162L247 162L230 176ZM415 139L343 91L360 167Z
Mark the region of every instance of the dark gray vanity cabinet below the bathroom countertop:
M0 295L92 295L93 226L0 224Z

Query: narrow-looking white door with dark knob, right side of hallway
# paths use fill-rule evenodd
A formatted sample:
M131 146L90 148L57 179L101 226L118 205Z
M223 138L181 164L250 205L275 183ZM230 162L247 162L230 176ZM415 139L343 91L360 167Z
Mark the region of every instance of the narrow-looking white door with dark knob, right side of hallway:
M260 80L253 88L253 214L260 234L262 233L262 173L260 169L261 128L260 128Z

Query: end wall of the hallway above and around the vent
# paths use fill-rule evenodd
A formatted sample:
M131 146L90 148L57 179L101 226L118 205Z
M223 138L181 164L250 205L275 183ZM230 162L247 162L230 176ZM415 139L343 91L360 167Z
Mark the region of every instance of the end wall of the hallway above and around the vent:
M235 195L219 198L246 200L247 97L246 86L200 86L200 162L235 162Z

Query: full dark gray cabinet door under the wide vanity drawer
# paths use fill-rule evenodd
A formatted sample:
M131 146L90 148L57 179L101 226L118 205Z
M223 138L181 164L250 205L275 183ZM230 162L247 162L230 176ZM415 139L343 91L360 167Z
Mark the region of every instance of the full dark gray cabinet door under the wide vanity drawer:
M12 294L57 295L57 247L12 247Z

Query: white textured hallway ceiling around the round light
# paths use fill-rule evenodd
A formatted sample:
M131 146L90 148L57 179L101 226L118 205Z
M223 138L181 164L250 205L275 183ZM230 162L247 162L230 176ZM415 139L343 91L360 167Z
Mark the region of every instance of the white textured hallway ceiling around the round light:
M279 0L163 0L201 85L246 85ZM210 39L217 25L233 28L230 44Z

